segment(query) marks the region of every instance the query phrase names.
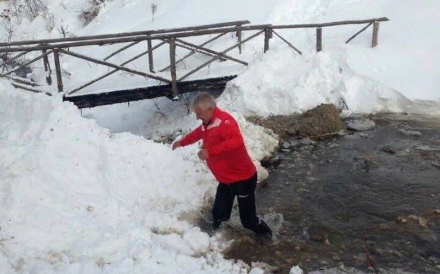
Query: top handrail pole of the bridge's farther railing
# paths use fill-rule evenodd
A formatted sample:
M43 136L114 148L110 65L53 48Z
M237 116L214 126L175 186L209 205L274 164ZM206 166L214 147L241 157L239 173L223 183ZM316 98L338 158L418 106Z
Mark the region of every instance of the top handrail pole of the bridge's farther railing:
M3 46L24 46L24 45L32 45L39 43L63 43L68 41L87 41L87 40L101 40L101 39L109 39L109 38L120 38L120 37L133 37L139 35L157 35L163 33L170 32L186 32L192 30L203 30L208 28L223 28L227 26L237 26L248 24L250 21L242 20L242 21L232 21L232 22L224 22L224 23L212 23L207 25L200 26L191 26L184 28L167 28L162 30L145 30L145 31L137 31L137 32L121 32L112 35L90 35L90 36L82 36L82 37L66 37L66 38L58 38L58 39L42 39L42 40L28 40L28 41L14 41L14 42L6 42L0 43L0 47Z

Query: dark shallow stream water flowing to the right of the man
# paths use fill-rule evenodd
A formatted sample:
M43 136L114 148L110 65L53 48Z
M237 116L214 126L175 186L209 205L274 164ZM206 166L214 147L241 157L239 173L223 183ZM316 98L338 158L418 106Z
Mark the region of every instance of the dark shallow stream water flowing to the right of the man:
M280 150L256 193L276 235L254 237L235 217L221 228L234 239L225 256L274 273L440 273L440 119L373 119L372 130Z

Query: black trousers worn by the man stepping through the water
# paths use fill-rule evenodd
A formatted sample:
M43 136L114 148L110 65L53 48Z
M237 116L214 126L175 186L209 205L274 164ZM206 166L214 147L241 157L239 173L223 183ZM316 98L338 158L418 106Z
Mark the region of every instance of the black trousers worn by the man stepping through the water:
M237 195L241 224L245 228L259 235L272 235L269 226L257 217L255 210L255 186L257 186L257 173L250 179L232 184L219 183L215 195L212 219L214 228L219 228L220 223L228 221L232 213L232 205Z

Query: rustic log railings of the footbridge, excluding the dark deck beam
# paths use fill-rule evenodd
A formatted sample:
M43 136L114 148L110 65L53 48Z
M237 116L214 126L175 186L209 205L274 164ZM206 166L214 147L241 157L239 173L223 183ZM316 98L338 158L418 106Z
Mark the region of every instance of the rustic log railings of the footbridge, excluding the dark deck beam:
M264 34L264 46L263 51L266 52L270 48L270 39L273 38L273 35L276 35L288 44L291 48L293 48L296 52L298 52L301 55L301 51L293 46L292 43L284 39L276 30L279 29L293 29L293 28L316 28L317 31L317 42L316 42L316 49L317 51L322 50L322 28L330 27L330 26L341 26L341 25L352 25L352 24L367 24L364 28L359 30L357 33L355 33L352 37L350 37L346 43L350 42L354 37L359 35L361 32L366 30L369 26L373 26L373 32L372 32L372 47L377 46L378 44L378 34L379 34L379 22L381 21L388 21L388 18L381 17L381 18L374 18L374 19L366 19L366 20L351 20L351 21L335 21L335 22L329 22L329 23L312 23L312 24L294 24L294 25L279 25L279 26L272 26L270 24L266 25L250 25L250 26L244 26L249 21L233 21L233 22L226 22L226 23L217 23L217 24L210 24L210 25L203 25L203 26L195 26L195 27L188 27L188 28L172 28L172 29L163 29L163 30L148 30L148 31L142 31L142 32L124 32L114 35L94 35L94 36L86 36L86 37L70 37L70 38L63 38L63 39L42 39L42 40L32 40L32 41L17 41L17 42L9 42L9 43L0 43L0 53L1 52L19 52L18 55L15 55L14 57L11 57L4 63L0 64L0 68L4 70L6 68L6 65L9 63L12 63L14 60L19 59L20 57L23 57L29 52L34 51L41 51L41 55L34 57L33 59L26 61L25 63L21 64L21 66L14 68L8 72L3 72L0 74L0 77L8 77L12 79L15 83L14 86L17 88L23 88L22 84L28 84L26 83L26 80L22 80L21 83L17 84L17 77L10 77L12 72L15 72L25 66L29 66L31 63L34 63L36 61L39 61L40 59L43 59L44 68L46 72L48 72L48 77L46 77L46 81L48 84L52 83L52 80L50 78L51 69L50 64L48 61L48 55L53 55L54 57L54 65L55 65L55 72L57 75L57 88L59 92L64 92L63 90L63 80L61 75L61 64L59 55L70 55L72 57L77 57L79 59L84 59L86 61L91 61L93 63L98 63L103 66L108 66L110 68L113 68L113 70L110 70L110 72L107 72L105 75L101 75L101 77L98 77L96 79L93 79L92 81L88 81L88 83L83 84L82 86L78 88L74 88L73 90L70 90L68 92L65 92L64 96L66 95L72 95L74 92L77 92L83 88L86 88L86 86L90 86L91 84L96 83L97 81L100 81L101 79L104 79L110 75L112 75L114 72L117 72L119 70L130 72L134 75L140 75L146 78L150 79L156 79L158 81L161 81L165 84L168 84L170 86L168 97L171 98L177 98L178 95L178 88L177 84L179 82L182 82L184 79L189 77L190 75L193 75L195 72L201 70L202 68L205 68L210 63L221 59L221 60L230 60L237 63L241 63L244 66L248 66L248 63L246 61L237 59L235 57L231 57L230 55L226 55L226 53L230 52L230 50L233 50L234 48L239 49L239 53L241 53L242 48L241 46L243 43L246 43L256 37L258 37L261 34ZM245 31L255 31L254 34L246 37L246 39L243 39L242 33ZM207 48L206 45L208 43L211 43L212 41L219 39L223 35L226 35L227 33L234 32L237 35L237 43L230 46L229 48L226 48L223 51L215 51L211 50L210 48ZM195 36L203 36L203 35L215 35L214 37L208 39L207 41L201 43L200 45L195 45L194 43L189 43L188 41L184 41L183 38L185 37L195 37ZM159 43L156 46L152 46L152 41L157 40ZM124 61L123 63L116 64L108 61L110 57L113 57L115 55L118 55L120 52L123 52L124 50L127 50L128 48L142 42L147 41L147 50L144 52L141 52L139 55L132 57L131 59ZM77 52L73 52L71 48L76 48L80 46L105 46L110 44L119 44L119 43L129 43L126 46L123 46L122 48L119 48L118 50L112 52L110 55L103 59L97 59L94 57L81 55ZM169 52L170 52L170 65L166 66L165 68L161 68L159 72L165 72L166 70L170 70L170 79L164 78L163 76L156 75L156 72L154 71L154 59L153 59L153 52L157 48L165 45L168 43L169 45ZM176 60L176 48L186 48L187 50L190 50L190 53L185 55L179 60ZM69 50L66 50L69 49ZM208 55L211 57L208 61L205 61L200 66L197 66L197 68L194 68L190 70L190 72L187 72L185 75L181 77L177 77L176 73L176 65L177 63L183 61L184 59L190 57L194 53L201 53L203 55ZM134 70L131 68L125 67L126 64L139 59L140 57L148 55L148 68L149 72L142 72L139 70ZM23 83L23 81L25 83ZM26 87L26 86L24 86ZM34 88L26 88L28 90L32 90L34 92L38 92L39 90L35 90Z

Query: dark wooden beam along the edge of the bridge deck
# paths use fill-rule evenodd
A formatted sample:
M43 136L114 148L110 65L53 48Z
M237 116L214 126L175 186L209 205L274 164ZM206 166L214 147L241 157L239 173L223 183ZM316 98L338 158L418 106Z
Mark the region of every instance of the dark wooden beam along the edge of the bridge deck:
M223 90L226 86L226 83L235 77L237 77L237 75L194 81L181 81L177 82L177 91L178 94L183 94L186 92ZM172 85L166 84L161 86L149 86L146 88L118 90L90 95L65 96L63 97L63 101L71 101L78 108L93 108L95 106L126 103L128 101L169 97L171 89Z

